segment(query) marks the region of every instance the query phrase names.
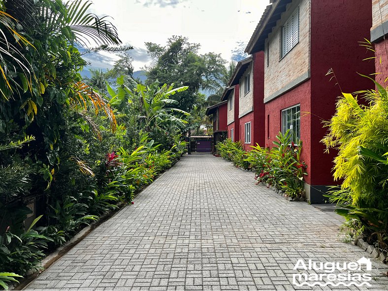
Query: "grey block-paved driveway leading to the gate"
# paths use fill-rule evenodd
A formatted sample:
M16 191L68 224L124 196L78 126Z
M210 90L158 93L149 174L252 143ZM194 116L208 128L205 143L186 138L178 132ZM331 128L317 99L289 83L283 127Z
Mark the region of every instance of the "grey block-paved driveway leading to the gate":
M366 289L293 285L298 259L350 262L367 254L341 242L335 218L255 185L252 172L221 158L184 156L134 202L28 290ZM371 261L369 290L387 290L387 266Z

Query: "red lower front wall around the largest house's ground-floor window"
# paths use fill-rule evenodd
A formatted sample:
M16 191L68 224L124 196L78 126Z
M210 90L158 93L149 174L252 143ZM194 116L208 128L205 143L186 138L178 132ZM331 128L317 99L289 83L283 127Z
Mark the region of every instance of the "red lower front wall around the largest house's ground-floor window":
M305 112L310 112L311 99L310 99L310 80L300 84L293 90L287 92L286 94L273 99L272 101L265 104L265 147L272 148L273 141L276 140L276 135L281 131L282 126L282 109L291 107L293 105L300 104L300 139L303 141L303 151L302 151L302 160L307 163L307 173L308 175L305 178L305 181L310 184L311 182L311 115L304 114ZM268 124L267 124L267 115L269 114L269 138L268 136Z

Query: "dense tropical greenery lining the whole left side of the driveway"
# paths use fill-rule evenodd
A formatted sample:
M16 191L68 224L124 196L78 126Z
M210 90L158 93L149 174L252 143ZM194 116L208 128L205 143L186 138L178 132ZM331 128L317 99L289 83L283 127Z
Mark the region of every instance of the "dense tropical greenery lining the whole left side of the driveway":
M121 76L106 96L84 82L84 54L128 49L91 4L1 1L0 288L185 151L187 113L166 105L187 87Z

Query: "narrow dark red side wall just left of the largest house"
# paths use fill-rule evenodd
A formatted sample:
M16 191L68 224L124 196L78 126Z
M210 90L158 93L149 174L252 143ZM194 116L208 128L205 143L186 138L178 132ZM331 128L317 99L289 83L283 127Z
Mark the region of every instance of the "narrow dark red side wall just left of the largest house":
M264 107L264 52L253 54L253 141L263 147L265 144L265 107Z

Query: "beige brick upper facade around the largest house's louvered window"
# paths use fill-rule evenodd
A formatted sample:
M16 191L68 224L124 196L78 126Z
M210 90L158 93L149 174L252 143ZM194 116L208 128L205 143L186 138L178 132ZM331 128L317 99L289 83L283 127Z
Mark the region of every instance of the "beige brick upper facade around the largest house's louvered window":
M277 94L280 95L288 84L298 77L307 75L310 69L310 7L311 0L294 0L288 4L286 12L265 41L264 102ZM282 58L282 26L298 8L299 42Z

